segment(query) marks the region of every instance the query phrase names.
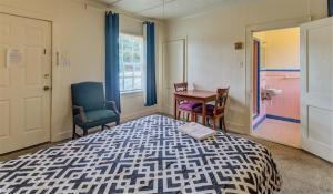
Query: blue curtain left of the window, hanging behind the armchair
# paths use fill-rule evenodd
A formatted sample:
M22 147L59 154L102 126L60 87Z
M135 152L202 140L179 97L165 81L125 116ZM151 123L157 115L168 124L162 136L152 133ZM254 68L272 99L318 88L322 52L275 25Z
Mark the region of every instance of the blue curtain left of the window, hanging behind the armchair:
M119 14L105 14L105 98L120 111L119 90Z

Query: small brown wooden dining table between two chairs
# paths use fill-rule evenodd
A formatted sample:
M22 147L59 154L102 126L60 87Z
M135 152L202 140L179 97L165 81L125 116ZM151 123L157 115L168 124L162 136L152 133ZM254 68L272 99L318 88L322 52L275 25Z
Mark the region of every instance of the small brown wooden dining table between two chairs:
M174 118L176 119L176 105L178 100L186 100L202 103L202 123L205 125L208 102L214 101L216 99L216 93L205 90L189 90L185 92L174 92Z

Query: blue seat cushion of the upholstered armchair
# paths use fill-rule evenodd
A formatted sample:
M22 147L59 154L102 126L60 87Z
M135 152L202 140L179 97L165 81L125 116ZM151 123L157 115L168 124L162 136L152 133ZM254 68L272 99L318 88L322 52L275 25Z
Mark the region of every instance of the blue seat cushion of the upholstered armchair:
M80 115L74 116L74 122L83 129L90 129L102 124L115 122L119 115L111 110L101 109L85 112L87 122L83 122Z

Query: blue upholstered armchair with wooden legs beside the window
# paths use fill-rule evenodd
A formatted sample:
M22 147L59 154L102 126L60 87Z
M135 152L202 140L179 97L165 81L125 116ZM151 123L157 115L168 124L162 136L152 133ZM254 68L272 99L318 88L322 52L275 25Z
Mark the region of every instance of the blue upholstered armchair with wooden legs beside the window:
M72 91L72 112L73 112L73 135L77 134L77 125L83 130L83 136L88 130L101 126L109 127L107 124L115 122L119 125L120 113L115 102L105 101L103 83L82 82L71 85Z

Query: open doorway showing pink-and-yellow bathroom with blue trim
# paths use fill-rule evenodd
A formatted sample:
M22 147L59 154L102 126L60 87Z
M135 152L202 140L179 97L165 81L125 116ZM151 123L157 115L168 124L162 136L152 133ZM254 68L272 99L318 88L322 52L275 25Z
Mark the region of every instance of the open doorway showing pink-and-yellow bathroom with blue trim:
M253 33L252 135L301 147L300 28Z

